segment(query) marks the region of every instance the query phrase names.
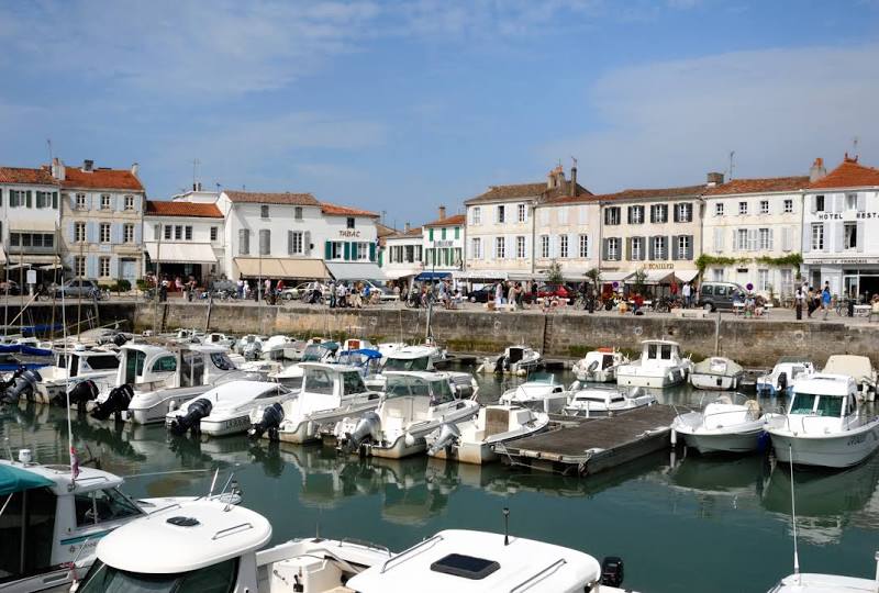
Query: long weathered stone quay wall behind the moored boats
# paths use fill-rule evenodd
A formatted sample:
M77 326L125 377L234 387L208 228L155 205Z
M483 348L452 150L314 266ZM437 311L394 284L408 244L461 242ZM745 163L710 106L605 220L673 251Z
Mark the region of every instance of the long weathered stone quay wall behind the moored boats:
M60 322L60 307L54 307ZM10 304L10 322L18 306ZM374 342L423 339L427 313L423 310L381 307L326 310L304 305L255 306L204 303L110 302L78 307L67 305L67 322L78 318L84 328L119 321L126 329L169 331L177 327L214 329L232 334L321 335L334 339L367 337ZM53 306L38 303L27 309L19 323L51 323ZM525 343L544 356L580 357L587 350L614 346L637 351L646 338L668 337L679 342L694 359L716 353L746 367L771 367L780 356L800 355L822 365L832 354L866 355L879 366L879 325L841 322L806 323L741 320L728 314L719 321L672 315L634 317L578 313L543 314L537 311L494 313L488 311L434 311L434 336L448 349L463 353L498 353L514 343Z

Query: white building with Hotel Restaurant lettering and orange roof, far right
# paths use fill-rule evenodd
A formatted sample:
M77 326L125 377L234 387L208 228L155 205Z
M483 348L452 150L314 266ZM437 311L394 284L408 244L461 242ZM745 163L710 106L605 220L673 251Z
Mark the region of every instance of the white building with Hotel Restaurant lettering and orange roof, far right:
M879 293L879 169L845 155L809 184L802 247L811 286L828 282L835 295Z

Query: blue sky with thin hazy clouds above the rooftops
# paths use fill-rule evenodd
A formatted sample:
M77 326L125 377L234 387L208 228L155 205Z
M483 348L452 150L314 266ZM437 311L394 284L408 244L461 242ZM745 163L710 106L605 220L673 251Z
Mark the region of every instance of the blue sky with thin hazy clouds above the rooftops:
M732 152L738 178L879 166L877 25L878 0L0 0L0 164L138 163L151 199L194 175L398 227L572 157L593 193Z

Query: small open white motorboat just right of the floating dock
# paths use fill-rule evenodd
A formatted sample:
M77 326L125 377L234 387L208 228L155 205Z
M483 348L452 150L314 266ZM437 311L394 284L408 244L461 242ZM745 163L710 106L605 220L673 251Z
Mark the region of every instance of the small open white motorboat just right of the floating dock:
M756 451L766 423L760 405L741 394L735 398L721 395L701 412L679 414L671 423L672 443L681 435L700 454Z

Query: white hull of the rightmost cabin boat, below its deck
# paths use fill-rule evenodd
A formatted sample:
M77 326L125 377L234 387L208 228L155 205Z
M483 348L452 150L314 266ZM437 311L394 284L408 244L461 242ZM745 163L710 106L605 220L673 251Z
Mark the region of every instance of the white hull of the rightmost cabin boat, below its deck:
M768 429L776 458L794 466L849 468L872 455L879 447L879 421L841 435L797 435Z

